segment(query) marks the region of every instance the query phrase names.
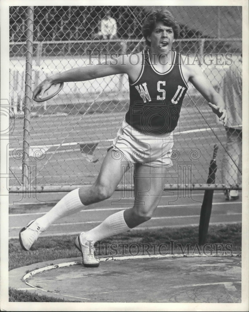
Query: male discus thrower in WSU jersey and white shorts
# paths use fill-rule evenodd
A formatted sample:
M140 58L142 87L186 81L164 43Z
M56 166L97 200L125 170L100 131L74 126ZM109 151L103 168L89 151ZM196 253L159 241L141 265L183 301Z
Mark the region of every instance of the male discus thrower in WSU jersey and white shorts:
M188 81L209 102L219 120L226 124L227 116L222 97L203 76L199 66L187 65L191 62L181 64L180 56L172 50L179 27L171 13L150 13L144 22L142 33L149 46L148 50L120 56L115 64L79 67L56 74L44 80L34 90L34 96L42 96L52 83L127 74L130 105L95 183L88 189L73 190L44 216L29 222L20 231L20 243L24 250L29 250L38 236L57 219L109 198L124 174L121 173L121 160L122 163L126 161L126 170L135 166L134 205L112 214L100 225L88 232L82 232L76 238L75 244L81 251L83 265L99 265L94 257L95 241L128 231L152 217L164 193L162 176L172 166L170 156L173 130L177 125Z

